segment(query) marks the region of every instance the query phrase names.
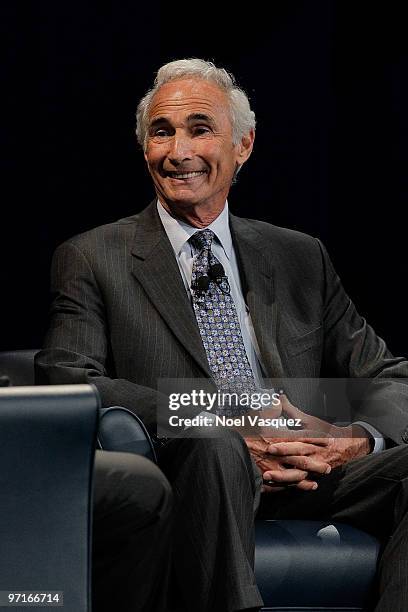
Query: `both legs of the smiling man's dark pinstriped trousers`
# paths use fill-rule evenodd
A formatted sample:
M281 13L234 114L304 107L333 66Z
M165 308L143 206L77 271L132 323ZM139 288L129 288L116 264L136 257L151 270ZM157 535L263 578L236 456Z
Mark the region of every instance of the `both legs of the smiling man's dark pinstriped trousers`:
M262 605L253 575L261 475L245 442L226 430L211 438L175 439L161 451L159 464L174 493L176 609L236 612ZM334 469L316 491L263 494L259 516L338 520L376 535L383 553L375 610L406 612L407 478L408 447L396 447Z

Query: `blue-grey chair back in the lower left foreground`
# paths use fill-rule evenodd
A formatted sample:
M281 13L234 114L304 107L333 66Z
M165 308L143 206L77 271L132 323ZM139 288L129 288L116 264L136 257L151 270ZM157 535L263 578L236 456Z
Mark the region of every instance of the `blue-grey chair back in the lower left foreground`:
M89 612L93 385L0 389L0 591Z

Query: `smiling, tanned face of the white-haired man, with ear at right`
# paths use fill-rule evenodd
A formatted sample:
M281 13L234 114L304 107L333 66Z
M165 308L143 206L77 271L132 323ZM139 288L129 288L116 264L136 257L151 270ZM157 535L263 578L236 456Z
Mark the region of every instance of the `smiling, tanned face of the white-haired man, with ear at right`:
M162 204L208 224L222 211L253 139L251 133L233 144L229 101L215 83L185 78L160 87L150 106L145 159Z

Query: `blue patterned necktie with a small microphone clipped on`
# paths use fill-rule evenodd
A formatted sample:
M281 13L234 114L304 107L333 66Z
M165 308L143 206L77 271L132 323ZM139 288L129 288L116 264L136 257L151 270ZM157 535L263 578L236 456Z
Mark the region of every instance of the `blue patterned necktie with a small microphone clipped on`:
M191 279L194 313L218 389L250 392L255 389L254 375L228 279L211 250L213 238L214 232L209 229L198 231L190 238L196 252ZM236 414L236 411L223 410L223 413Z

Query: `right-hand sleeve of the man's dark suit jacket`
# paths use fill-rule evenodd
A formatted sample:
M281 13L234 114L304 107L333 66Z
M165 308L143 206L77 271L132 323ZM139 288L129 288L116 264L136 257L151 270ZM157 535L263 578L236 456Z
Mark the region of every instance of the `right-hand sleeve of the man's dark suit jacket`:
M324 285L324 376L343 377L353 421L371 424L387 445L408 443L408 361L394 357L344 291L319 242Z

